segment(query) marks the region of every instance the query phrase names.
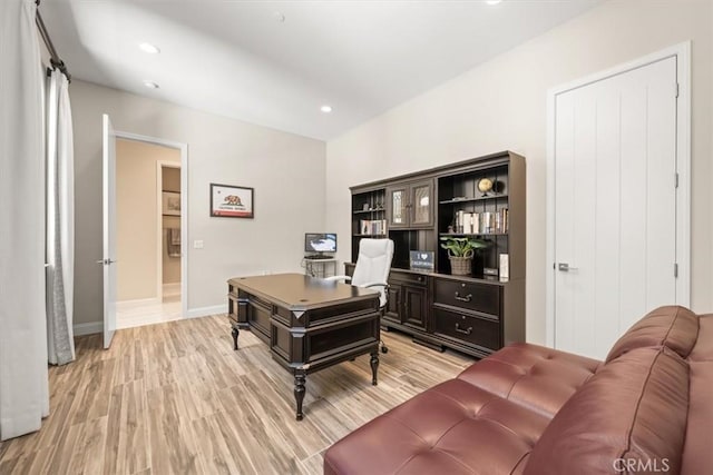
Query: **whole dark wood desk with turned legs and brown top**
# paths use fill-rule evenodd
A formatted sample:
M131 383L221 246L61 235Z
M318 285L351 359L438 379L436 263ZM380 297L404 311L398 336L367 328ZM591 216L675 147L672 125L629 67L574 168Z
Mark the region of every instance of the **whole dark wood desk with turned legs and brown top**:
M227 286L234 349L244 328L270 345L294 375L297 420L310 373L369 353L377 384L379 291L301 274L240 277Z

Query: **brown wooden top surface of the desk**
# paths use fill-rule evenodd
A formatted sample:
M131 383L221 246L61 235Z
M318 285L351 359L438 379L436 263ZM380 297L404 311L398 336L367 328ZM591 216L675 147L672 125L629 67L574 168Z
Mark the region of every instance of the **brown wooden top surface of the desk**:
M235 277L231 285L290 308L321 307L345 300L378 298L379 291L302 274Z

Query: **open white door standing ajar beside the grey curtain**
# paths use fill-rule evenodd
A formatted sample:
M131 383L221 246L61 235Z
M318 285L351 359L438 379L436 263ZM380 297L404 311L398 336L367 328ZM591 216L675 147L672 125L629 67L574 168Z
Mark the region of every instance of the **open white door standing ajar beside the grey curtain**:
M116 133L111 120L102 116L102 234L104 257L104 347L116 331Z

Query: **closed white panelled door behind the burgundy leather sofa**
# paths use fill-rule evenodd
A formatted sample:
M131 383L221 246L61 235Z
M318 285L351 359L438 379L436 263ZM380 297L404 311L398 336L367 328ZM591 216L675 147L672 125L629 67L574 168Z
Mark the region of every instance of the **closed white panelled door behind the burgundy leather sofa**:
M676 57L555 97L554 343L604 358L676 303Z

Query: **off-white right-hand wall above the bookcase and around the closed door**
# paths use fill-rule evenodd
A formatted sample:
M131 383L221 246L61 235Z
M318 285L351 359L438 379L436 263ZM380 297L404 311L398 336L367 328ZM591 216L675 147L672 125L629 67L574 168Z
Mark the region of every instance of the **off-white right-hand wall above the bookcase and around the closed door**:
M692 40L692 307L713 311L711 4L609 0L329 141L326 227L349 235L349 186L499 150L524 155L527 339L544 343L547 90ZM349 249L342 247L339 257L349 259Z

